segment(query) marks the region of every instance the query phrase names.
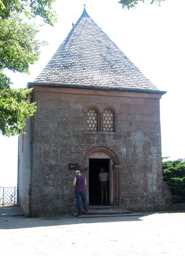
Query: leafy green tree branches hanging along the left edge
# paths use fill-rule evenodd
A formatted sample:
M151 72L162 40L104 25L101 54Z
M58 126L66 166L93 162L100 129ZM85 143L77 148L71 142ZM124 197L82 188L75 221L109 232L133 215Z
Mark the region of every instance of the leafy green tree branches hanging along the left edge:
M35 103L25 101L30 89L13 89L4 69L29 74L30 64L39 59L46 42L36 39L39 32L32 18L44 23L56 21L51 4L55 0L0 0L0 132L11 136L23 132L24 119L34 115ZM40 23L40 25L43 24Z

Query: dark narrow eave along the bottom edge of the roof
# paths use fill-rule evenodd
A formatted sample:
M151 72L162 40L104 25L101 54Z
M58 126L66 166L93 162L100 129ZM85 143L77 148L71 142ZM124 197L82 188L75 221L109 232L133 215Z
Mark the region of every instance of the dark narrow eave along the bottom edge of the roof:
M147 90L147 89L138 89L138 88L123 88L123 87L104 87L96 85L78 85L78 84L52 84L52 83L37 83L37 82L28 82L27 87L31 88L32 86L47 86L47 87L63 87L63 88L80 88L80 89L92 89L92 90L106 90L106 91L122 91L122 92L144 92L144 93L157 93L165 94L166 91L160 90Z

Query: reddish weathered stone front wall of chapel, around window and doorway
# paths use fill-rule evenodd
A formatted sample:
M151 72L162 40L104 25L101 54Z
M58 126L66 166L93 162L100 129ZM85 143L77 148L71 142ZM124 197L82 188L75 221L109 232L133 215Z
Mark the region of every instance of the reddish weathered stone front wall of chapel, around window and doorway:
M74 171L95 147L115 152L123 166L121 198L114 204L132 211L164 210L161 163L160 94L34 87L32 216L76 209ZM116 132L87 132L89 106L115 110Z

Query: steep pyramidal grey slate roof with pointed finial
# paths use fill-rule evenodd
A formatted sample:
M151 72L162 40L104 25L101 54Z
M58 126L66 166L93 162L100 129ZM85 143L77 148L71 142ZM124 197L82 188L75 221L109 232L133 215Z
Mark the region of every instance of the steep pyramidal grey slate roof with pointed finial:
M98 27L85 5L66 39L28 87L34 84L164 93Z

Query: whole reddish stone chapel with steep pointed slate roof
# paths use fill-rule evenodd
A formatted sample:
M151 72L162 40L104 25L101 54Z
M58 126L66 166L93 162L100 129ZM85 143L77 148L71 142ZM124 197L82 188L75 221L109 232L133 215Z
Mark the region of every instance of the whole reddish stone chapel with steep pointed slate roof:
M153 85L85 10L49 63L28 83L35 116L19 139L19 204L32 217L76 211L75 170L88 205L100 204L98 175L109 173L109 204L169 210L162 179L159 101Z

